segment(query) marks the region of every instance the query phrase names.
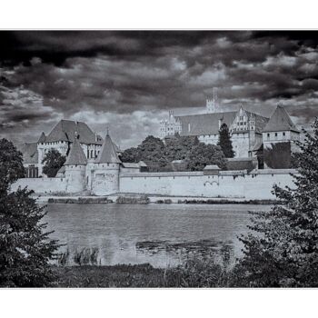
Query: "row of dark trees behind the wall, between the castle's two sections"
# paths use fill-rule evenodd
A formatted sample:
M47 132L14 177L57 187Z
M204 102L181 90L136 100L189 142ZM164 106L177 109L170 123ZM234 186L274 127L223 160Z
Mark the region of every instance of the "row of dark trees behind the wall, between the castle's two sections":
M220 138L221 139L221 138ZM221 169L226 169L224 153L233 157L231 140L222 139L218 145L200 143L196 136L180 136L166 138L165 141L150 135L137 147L126 149L121 156L125 163L138 163L144 161L150 171L171 171L174 161L182 161L182 170L201 171L205 165L217 164ZM230 151L224 151L222 145Z

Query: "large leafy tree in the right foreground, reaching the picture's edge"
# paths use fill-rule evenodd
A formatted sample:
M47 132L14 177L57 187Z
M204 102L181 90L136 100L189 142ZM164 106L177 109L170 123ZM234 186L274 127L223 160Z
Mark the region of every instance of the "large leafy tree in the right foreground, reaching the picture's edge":
M293 174L295 188L273 187L280 200L270 212L253 213L237 265L241 285L258 287L318 286L318 120L314 134L305 134Z

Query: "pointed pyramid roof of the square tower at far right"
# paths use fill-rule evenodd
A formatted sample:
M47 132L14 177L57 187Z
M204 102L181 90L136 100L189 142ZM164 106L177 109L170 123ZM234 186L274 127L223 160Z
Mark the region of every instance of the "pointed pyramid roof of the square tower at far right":
M293 121L282 105L278 105L274 110L270 120L265 125L263 133L282 132L292 130L299 133L299 130L293 124Z

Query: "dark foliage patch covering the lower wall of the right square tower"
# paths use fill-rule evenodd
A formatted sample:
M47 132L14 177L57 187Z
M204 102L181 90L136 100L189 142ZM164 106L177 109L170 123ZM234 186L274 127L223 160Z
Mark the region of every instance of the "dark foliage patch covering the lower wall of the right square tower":
M271 148L263 149L263 161L272 169L291 168L291 143L271 144Z

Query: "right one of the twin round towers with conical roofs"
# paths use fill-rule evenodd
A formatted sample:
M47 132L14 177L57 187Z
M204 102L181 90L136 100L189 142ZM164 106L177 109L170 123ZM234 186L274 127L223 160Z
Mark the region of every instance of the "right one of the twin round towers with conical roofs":
M102 149L94 162L92 192L96 195L115 194L119 191L119 169L121 161L108 133Z

